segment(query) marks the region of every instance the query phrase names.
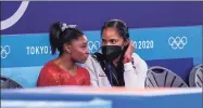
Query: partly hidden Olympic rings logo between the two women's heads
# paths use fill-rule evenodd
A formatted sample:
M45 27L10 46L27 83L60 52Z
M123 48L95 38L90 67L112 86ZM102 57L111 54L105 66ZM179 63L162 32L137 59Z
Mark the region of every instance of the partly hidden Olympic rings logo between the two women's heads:
M88 49L90 53L94 53L100 49L100 41L89 41Z

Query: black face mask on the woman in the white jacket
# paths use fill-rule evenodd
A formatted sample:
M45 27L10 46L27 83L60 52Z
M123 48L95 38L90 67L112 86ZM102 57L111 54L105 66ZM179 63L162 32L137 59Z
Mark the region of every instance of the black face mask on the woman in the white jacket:
M104 58L111 62L117 58L123 52L119 45L103 45L101 49Z

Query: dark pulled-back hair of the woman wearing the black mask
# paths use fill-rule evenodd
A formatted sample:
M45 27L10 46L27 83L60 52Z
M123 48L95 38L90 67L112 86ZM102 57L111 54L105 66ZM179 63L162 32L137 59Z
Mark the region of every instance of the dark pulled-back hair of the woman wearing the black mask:
M116 28L119 36L122 36L124 39L129 38L128 27L126 23L124 23L120 19L111 19L104 23L103 27L101 28L101 35L103 33L103 30L109 27Z

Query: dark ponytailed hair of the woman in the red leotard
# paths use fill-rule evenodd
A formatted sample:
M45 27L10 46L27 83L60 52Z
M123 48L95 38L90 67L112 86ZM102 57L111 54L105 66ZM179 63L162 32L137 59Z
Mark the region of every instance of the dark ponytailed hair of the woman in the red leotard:
M60 22L53 23L49 31L49 40L51 45L51 53L55 54L56 50L60 55L63 53L63 44L72 42L84 35L83 31L76 27L71 27Z

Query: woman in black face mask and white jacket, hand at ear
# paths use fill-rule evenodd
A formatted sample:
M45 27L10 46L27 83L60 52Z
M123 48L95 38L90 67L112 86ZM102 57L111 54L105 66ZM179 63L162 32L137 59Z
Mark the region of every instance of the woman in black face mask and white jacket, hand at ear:
M119 19L105 22L101 28L102 53L89 56L85 67L92 86L144 87L148 66L129 40L128 27Z

